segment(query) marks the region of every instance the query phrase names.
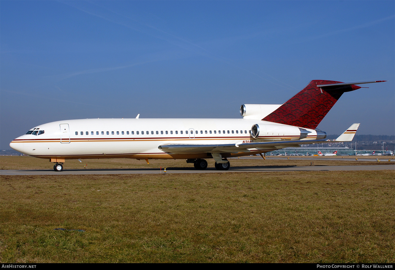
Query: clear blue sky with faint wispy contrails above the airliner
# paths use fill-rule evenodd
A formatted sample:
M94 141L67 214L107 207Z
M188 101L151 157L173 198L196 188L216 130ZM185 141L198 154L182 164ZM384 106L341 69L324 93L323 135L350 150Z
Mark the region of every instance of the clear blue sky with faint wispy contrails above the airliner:
M240 118L312 79L345 93L318 128L395 134L394 1L0 1L0 148L82 118Z

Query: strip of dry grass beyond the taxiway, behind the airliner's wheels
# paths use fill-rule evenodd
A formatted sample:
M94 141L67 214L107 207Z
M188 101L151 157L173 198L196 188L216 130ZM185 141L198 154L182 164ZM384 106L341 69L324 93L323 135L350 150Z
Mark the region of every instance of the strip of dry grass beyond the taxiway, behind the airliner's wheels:
M345 161L341 157L339 160L328 160L328 157L320 157L320 160L311 160L311 158L317 157L304 157L303 160L296 160L295 157L286 157L282 159L271 159L267 157L266 160L263 159L229 159L231 162L231 167L238 166L309 166L310 162L314 162L314 165L324 166L341 166L341 165L376 165L376 164L393 164L388 162L388 157L386 159L381 158L380 162L363 161L364 157L357 157L358 160ZM299 157L300 158L300 157ZM331 157L329 157L331 158ZM369 157L371 158L371 157ZM66 160L64 163L65 169L83 169L84 164L87 164L88 169L126 169L126 168L185 168L193 167L192 163L186 163L184 159L181 160L158 160L150 159L149 163L145 160L135 160L135 159L83 159L79 162L75 159ZM214 168L214 160L207 159L209 163L209 168ZM0 168L2 170L32 170L32 169L51 169L54 163L49 162L47 159L38 159L28 156L6 156L0 157Z

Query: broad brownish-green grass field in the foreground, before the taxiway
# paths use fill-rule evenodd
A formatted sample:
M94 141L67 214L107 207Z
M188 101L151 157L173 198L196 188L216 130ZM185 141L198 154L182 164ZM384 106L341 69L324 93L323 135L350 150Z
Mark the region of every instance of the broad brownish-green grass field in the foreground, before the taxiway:
M395 262L394 178L1 176L0 262Z

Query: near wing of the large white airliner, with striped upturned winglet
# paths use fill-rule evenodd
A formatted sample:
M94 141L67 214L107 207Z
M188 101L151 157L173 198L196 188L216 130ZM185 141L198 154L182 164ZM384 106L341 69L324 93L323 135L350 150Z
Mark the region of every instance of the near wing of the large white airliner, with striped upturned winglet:
M358 123L353 124L343 132L336 140L297 140L280 142L254 142L254 143L228 143L228 144L182 144L166 143L158 148L168 153L175 154L198 154L198 153L248 153L248 149L275 150L285 147L300 147L301 144L329 143L329 142L350 142L359 127Z

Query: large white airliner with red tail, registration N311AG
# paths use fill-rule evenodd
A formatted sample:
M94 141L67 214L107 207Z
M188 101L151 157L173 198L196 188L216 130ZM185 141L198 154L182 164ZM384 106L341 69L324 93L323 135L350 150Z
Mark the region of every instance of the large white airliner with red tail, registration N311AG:
M300 144L326 143L316 129L344 92L367 81L342 83L313 80L284 104L244 104L243 119L79 119L56 121L30 129L13 140L12 149L54 162L62 171L66 159L186 159L196 169L228 170L227 157L262 154ZM335 141L348 142L359 124ZM263 156L262 156L263 157Z

